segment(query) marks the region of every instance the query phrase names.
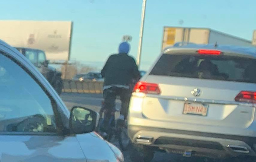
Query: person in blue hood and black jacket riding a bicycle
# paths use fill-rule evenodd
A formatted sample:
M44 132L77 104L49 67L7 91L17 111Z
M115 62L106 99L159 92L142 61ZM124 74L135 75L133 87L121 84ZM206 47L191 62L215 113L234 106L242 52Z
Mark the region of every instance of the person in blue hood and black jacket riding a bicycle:
M141 75L135 59L128 55L130 44L122 42L119 45L118 54L108 57L101 74L104 77L103 97L105 116L101 130L108 130L108 121L115 112L115 100L119 95L121 99L121 111L118 124L124 124L128 114L128 107L132 89L130 88L134 80L138 80Z

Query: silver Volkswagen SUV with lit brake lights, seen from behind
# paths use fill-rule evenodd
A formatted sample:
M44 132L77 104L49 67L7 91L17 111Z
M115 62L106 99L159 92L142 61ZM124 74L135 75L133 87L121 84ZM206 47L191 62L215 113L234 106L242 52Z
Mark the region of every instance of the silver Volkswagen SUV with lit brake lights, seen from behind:
M255 158L255 104L256 48L166 48L131 97L128 133L142 152L131 158Z

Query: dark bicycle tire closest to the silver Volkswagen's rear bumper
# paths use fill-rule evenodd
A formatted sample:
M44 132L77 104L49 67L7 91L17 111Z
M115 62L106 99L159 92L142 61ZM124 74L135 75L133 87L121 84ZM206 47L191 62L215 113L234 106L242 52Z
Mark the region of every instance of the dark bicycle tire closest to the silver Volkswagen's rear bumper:
M125 135L125 136L123 136ZM131 143L128 137L127 127L120 126L117 130L118 143L123 151L126 151Z

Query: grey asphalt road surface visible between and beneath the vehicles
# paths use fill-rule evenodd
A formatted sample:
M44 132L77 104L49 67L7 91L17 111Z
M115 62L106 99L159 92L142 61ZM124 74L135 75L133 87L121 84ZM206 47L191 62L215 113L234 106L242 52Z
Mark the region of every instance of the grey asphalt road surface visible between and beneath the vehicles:
M69 110L73 106L83 106L95 111L99 111L101 108L101 102L103 100L102 94L81 94L81 93L62 93L62 100L65 102ZM116 107L120 108L121 102L117 99ZM118 142L113 141L118 146ZM131 162L129 158L129 150L123 152L125 156L125 162ZM163 152L157 152L152 162L213 162L213 159L205 158L186 158L181 155L168 154ZM219 162L218 160L216 162Z

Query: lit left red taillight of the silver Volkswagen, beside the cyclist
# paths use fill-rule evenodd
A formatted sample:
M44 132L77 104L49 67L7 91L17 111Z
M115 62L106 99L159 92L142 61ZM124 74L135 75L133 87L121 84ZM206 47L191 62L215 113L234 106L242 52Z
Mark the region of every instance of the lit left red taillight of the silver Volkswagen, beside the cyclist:
M141 92L145 94L160 94L161 90L158 86L158 84L155 83L147 83L147 82L138 82L133 92Z

